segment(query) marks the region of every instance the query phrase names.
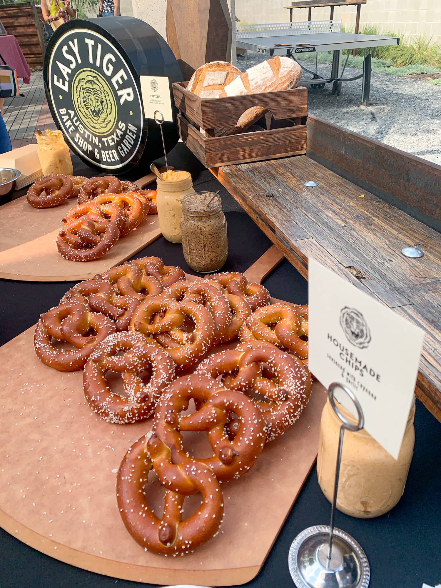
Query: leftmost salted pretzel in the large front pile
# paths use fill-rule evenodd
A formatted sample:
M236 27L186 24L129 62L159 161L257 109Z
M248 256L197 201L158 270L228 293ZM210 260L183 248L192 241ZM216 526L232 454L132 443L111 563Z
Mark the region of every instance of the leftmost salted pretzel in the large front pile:
M90 312L82 304L61 304L40 316L34 335L35 353L59 372L75 372L83 368L96 346L115 331L107 316ZM55 346L52 338L69 343L73 349Z

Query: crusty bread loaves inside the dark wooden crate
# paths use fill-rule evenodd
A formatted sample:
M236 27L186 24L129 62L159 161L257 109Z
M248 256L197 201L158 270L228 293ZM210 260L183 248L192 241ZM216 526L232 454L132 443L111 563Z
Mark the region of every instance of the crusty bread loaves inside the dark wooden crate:
M221 66L222 69L220 69ZM239 72L240 75L235 75L235 71L239 72L237 68L226 62L215 61L205 64L196 69L187 89L201 98L226 98L227 96L242 96L296 88L302 78L302 68L296 61L278 55L247 69L244 74ZM229 75L233 76L232 81L224 83L222 88L221 81L226 82ZM243 132L266 112L268 109L263 106L253 106L239 117L235 125L215 129L215 136L235 135ZM203 132L203 129L201 131Z

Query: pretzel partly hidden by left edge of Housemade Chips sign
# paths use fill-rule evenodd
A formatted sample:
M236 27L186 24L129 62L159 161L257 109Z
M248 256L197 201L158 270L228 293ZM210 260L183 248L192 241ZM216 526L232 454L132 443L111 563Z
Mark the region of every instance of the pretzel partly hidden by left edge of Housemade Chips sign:
M240 341L260 339L308 359L308 307L271 304L255 310L240 329Z

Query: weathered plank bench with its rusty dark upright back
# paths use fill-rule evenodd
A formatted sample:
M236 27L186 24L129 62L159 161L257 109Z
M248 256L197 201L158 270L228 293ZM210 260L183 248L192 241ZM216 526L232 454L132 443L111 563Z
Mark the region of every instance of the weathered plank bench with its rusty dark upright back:
M416 395L441 420L441 166L315 116L307 127L306 155L211 171L305 278L312 256L425 330Z

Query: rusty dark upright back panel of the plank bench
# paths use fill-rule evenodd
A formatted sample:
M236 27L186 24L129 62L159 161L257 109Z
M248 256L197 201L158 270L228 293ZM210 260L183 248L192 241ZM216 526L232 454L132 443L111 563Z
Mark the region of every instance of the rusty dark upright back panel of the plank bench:
M308 116L306 155L441 230L441 166Z

